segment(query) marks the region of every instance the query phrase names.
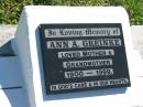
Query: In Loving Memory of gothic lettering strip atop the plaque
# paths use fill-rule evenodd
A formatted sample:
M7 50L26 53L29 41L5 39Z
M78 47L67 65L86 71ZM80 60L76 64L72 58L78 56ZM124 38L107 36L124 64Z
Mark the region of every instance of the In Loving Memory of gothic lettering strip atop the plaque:
M45 38L119 36L119 28L45 29Z

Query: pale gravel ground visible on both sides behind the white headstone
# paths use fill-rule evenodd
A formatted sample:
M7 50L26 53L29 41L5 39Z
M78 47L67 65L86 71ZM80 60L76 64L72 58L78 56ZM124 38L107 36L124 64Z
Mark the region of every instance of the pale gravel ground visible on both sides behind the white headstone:
M14 38L16 25L0 25L0 46ZM143 25L132 25L132 40L135 50L140 51L143 58Z

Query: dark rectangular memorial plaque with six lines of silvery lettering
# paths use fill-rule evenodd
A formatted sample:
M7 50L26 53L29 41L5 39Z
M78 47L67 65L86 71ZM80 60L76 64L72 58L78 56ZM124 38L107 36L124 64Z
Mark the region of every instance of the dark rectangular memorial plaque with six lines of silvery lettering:
M130 86L121 23L41 24L46 94Z

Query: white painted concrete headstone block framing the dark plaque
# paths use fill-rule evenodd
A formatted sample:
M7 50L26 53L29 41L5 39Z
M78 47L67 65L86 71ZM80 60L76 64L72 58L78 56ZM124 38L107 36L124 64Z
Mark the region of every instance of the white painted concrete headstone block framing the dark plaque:
M136 67L139 68L138 64L133 61L133 56L139 54L135 54L132 49L129 19L124 9L25 7L18 25L15 40L31 107L132 107L140 104L132 96L132 93L136 95L134 84L127 90L118 88L52 96L45 95L43 72L40 67L41 58L38 58L40 54L37 53L40 47L36 41L38 36L37 26L41 23L122 23L131 83L136 83L134 71L136 71ZM142 63L141 60L139 62ZM130 103L129 100L134 101Z

